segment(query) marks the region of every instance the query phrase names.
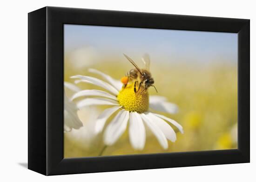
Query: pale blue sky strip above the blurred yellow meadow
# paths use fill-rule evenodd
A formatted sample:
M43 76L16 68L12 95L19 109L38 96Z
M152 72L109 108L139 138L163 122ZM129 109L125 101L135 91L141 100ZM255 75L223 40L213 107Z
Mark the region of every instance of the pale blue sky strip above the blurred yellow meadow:
M237 34L91 25L64 25L65 51L92 46L101 56L163 56L170 61L237 62Z

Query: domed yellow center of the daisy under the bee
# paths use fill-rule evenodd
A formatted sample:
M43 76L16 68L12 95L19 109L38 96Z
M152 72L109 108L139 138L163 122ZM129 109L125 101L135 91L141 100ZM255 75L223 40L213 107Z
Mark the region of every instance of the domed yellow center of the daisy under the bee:
M122 88L117 95L117 100L119 104L127 111L143 113L148 111L149 100L148 100L148 92L142 92L144 89L141 86L140 90L135 94L134 92L134 82L128 84L126 88ZM138 90L138 87L136 87Z

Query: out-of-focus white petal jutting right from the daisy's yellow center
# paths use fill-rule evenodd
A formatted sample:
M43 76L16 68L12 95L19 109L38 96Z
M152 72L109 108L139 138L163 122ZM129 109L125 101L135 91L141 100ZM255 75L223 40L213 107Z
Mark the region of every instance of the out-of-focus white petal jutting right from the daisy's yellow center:
M149 107L155 111L175 114L178 112L178 106L174 103L165 101L166 98L162 96L150 96Z

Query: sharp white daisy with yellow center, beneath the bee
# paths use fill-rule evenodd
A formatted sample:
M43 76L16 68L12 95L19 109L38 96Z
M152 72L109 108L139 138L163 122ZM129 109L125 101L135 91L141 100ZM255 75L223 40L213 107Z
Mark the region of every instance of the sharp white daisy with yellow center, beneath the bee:
M108 118L115 113L114 119L106 127L103 138L106 145L113 145L125 132L129 123L129 140L135 150L142 150L146 142L147 126L155 135L163 149L168 149L168 140L175 142L176 133L168 124L176 126L183 133L182 126L175 120L164 115L151 112L160 111L166 113L177 112L177 106L167 102L165 97L150 96L148 92L134 93L134 83L128 83L126 88L122 83L96 69L88 69L89 72L101 76L105 81L84 75L75 75L75 83L86 82L99 86L103 90L82 90L75 93L71 100L79 97L88 97L77 102L78 108L88 106L109 106L96 119L95 132L102 132ZM143 89L143 88L141 88ZM168 123L167 123L168 122Z

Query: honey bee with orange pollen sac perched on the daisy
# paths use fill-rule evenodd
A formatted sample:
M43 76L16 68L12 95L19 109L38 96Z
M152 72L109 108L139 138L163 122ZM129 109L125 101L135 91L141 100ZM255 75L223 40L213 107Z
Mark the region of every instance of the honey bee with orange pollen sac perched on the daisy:
M155 83L154 79L151 76L151 73L149 72L149 66L150 66L150 59L148 54L145 54L142 57L142 61L145 64L145 69L140 69L135 62L128 57L127 55L123 54L130 63L134 65L134 69L131 69L130 71L127 72L126 76L121 78L121 82L124 84L124 88L127 86L129 81L134 81L134 92L135 94L140 90L141 85L143 84L144 89L141 91L147 91L149 87L154 87L153 85ZM138 90L136 89L137 84L139 84ZM155 91L157 92L156 88Z

